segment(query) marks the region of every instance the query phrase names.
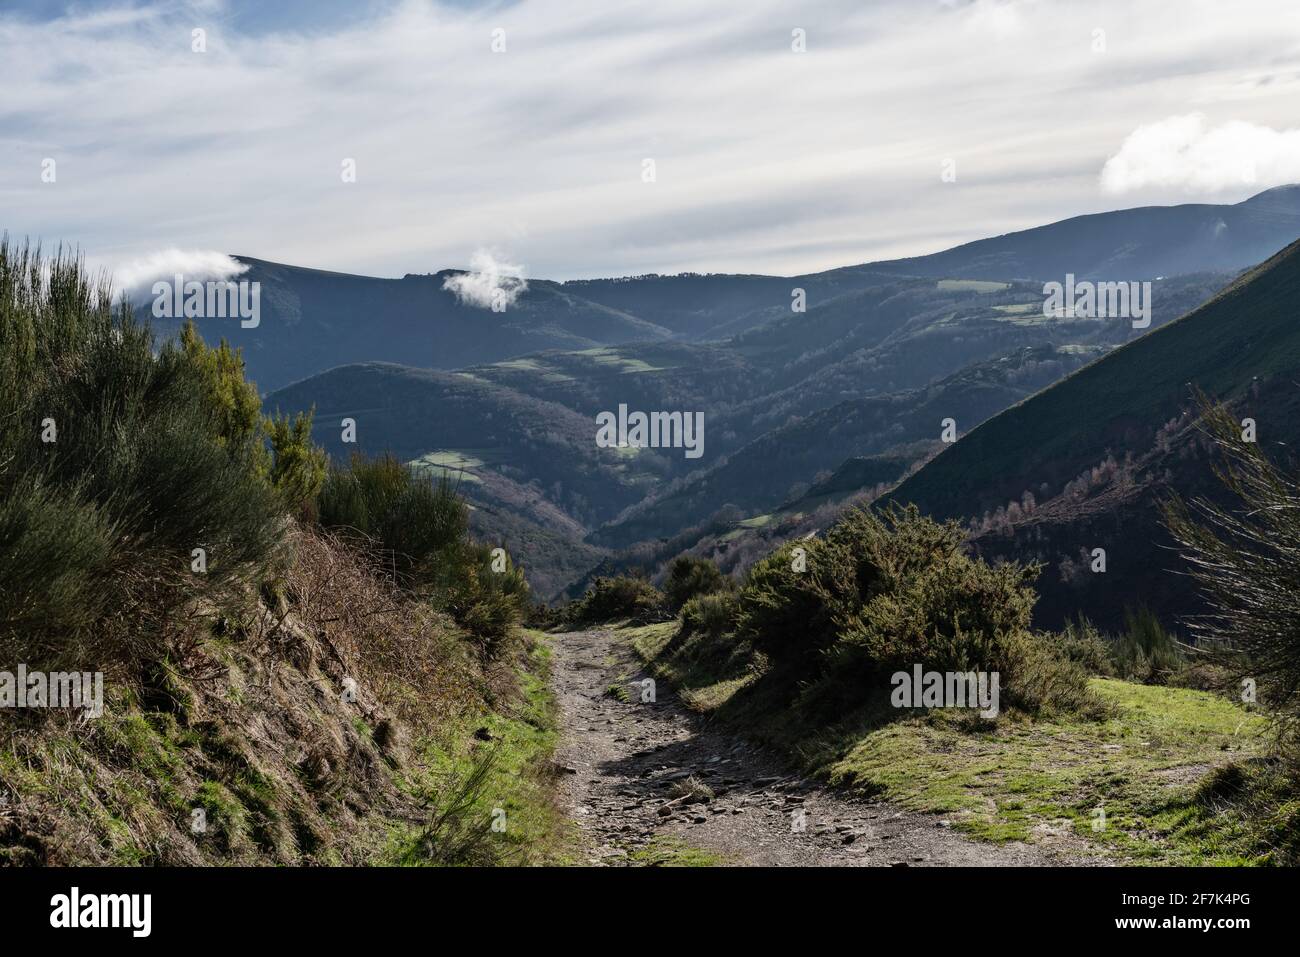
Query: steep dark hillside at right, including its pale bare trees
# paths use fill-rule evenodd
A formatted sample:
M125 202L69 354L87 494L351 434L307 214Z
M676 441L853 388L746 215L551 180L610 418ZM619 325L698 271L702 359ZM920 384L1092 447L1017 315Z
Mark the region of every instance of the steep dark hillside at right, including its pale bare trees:
M885 501L972 521L991 557L1039 559L1039 619L1082 611L1113 627L1126 607L1199 606L1164 532L1170 494L1217 494L1193 393L1257 423L1290 462L1300 447L1300 242L1201 307L1117 348L965 434ZM1091 571L1093 549L1105 572Z

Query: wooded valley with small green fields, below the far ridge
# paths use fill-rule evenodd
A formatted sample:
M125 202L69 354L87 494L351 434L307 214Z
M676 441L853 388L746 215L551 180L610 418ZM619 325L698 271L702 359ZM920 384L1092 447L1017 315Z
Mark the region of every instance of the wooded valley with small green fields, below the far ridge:
M1265 195L1300 209L1294 192ZM1178 209L1130 212L1150 217L1147 228L1158 233L1161 222L1183 216ZM1253 215L1235 215L1262 228ZM1096 226L1045 229L1075 235L1084 225ZM1290 221L1274 228L1283 242ZM998 242L1028 250L1040 237L1030 230ZM478 311L477 321L554 328L537 309L551 303L572 315L581 296L662 334L625 341L588 325L601 345L532 351L526 338L507 333L489 338L511 358L450 371L413 368L406 355L400 363L351 361L276 389L266 403L289 413L315 408L313 438L337 459L354 450L393 451L432 475L442 468L474 503L476 529L517 555L542 599L580 590L597 568L653 575L682 549L738 572L759 542L794 529L803 534L818 510L824 523L836 503L880 494L919 469L944 449L944 420L965 436L1147 332L1126 319L1044 315L1044 283L1015 276L1030 260L1008 267L1013 272L997 282L985 278L985 259L968 260L985 264L979 268L961 265L967 260L956 254L907 268L923 274L952 263L979 278L918 278L888 264L789 280L686 274L534 283L517 315ZM1219 272L1167 276L1153 273L1158 256L1135 260L1135 277L1152 276L1144 280L1152 283L1150 326L1230 283L1235 255L1225 256ZM1032 263L1031 273L1048 277L1058 264L1062 280L1096 274L1063 260ZM806 312L790 311L790 289L803 290ZM564 304L552 293L567 296ZM254 371L255 359L256 350ZM707 452L602 447L599 416L620 407L698 417ZM341 441L335 423L343 416L361 424L355 445ZM845 485L840 469L862 459L880 468L870 482ZM837 471L835 494L810 494ZM988 507L996 506L979 515ZM774 514L784 520L763 520Z

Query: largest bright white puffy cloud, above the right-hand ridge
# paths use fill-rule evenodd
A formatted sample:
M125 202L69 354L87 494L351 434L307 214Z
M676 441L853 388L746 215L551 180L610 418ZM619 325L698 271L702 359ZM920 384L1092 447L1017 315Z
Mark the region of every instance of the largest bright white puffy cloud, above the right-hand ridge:
M1139 126L1101 170L1101 189L1148 187L1217 194L1300 182L1300 130L1230 121L1208 126L1201 113Z

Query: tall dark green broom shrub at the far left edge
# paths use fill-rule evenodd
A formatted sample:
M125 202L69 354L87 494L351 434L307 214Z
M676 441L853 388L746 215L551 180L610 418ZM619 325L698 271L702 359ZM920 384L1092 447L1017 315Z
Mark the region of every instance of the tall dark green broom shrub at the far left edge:
M0 242L3 657L138 663L179 605L265 573L283 516L260 437L204 376L77 257Z

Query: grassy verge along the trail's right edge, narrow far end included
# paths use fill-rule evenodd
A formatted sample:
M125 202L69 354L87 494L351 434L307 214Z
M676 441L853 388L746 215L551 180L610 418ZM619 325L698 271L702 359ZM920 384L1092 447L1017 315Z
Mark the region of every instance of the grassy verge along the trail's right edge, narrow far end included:
M1225 779L1257 774L1264 719L1205 692L1093 679L1105 720L1004 716L972 728L932 711L809 732L746 700L758 670L745 649L675 646L675 633L673 623L624 631L688 707L745 727L832 785L942 814L976 839L1065 832L1135 863L1268 863L1274 841L1261 831L1300 818L1291 807L1261 822L1247 800L1221 793Z

